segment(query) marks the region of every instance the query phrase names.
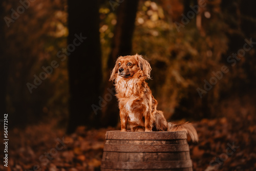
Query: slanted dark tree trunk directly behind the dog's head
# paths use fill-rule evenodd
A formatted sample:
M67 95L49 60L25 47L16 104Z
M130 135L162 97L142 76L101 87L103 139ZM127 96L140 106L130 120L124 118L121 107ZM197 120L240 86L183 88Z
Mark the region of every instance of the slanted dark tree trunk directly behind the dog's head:
M112 52L108 60L108 78L110 78L110 71L114 68L117 57L131 54L137 7L138 1L129 0L123 1L117 8L117 24L112 40ZM104 126L115 126L119 120L117 100L112 93L113 91L110 90L114 90L113 83L107 81L103 97L107 97L109 94L112 98L102 109L103 116L101 122Z

